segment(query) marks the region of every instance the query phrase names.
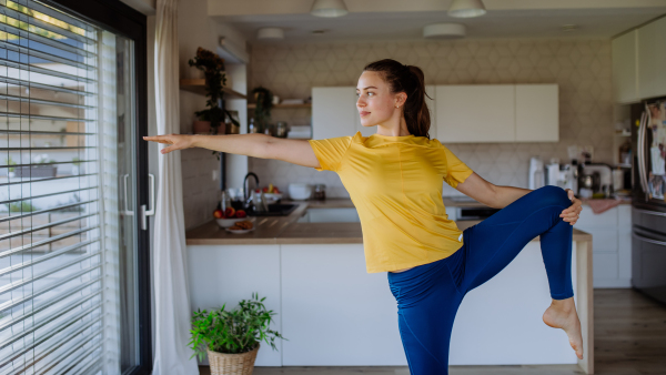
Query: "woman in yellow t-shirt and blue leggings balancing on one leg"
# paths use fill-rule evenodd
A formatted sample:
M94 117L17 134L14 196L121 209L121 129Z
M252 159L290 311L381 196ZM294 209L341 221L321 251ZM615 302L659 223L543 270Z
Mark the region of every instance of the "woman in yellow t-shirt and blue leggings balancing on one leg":
M264 134L145 140L170 144L162 153L205 148L335 171L361 219L367 272L387 272L410 372L416 375L447 374L451 331L465 294L539 235L553 298L544 323L564 330L583 358L571 276L572 225L581 201L556 186L531 191L494 185L431 140L424 78L417 67L390 59L370 63L356 94L362 125L376 126L367 138L357 132L310 141ZM446 216L442 181L502 210L460 231Z

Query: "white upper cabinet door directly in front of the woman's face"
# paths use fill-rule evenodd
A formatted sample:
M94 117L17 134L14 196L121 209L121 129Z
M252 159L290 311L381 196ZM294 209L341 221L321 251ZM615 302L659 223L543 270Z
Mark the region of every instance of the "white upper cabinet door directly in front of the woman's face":
M312 139L356 133L356 88L312 88Z

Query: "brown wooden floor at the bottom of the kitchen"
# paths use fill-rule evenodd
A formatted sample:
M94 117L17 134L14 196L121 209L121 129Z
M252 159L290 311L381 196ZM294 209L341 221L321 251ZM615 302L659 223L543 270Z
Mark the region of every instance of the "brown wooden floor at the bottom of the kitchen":
M666 375L666 306L634 290L594 290L595 373ZM209 375L208 366L201 366ZM410 375L406 367L255 367L254 375ZM577 365L451 366L451 375L571 375Z

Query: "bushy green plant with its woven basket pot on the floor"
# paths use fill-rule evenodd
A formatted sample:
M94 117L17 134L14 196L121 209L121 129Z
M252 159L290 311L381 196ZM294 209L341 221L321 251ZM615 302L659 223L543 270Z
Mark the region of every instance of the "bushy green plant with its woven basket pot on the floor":
M211 374L252 374L260 342L275 351L275 338L285 339L269 328L276 313L266 311L264 300L252 293L251 300L241 301L233 311L225 311L225 305L210 312L196 311L190 331L192 357L201 361L208 354Z

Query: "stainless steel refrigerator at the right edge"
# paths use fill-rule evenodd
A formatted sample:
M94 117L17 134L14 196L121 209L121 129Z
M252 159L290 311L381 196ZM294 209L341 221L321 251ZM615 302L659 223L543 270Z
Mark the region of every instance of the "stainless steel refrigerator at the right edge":
M666 304L666 98L630 111L632 285Z

